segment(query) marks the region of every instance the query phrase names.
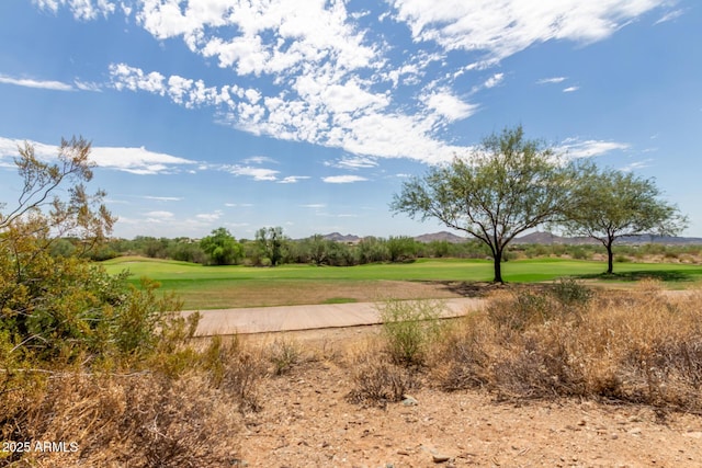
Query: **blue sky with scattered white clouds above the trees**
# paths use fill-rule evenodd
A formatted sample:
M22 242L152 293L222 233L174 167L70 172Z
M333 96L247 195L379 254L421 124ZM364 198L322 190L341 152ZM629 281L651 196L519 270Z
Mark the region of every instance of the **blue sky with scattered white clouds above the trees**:
M692 0L2 0L0 201L82 135L120 237L419 235L403 181L521 124L702 237L700 44Z

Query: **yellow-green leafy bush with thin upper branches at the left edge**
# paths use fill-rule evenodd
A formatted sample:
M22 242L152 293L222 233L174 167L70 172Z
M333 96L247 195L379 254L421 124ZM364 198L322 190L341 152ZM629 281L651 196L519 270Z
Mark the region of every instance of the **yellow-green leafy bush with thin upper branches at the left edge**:
M156 285L136 290L126 274L111 276L59 242L69 238L86 253L115 221L102 204L104 193L88 195L82 185L92 179L90 144L63 140L48 162L29 144L19 153L22 190L16 206L0 214L0 347L46 359L134 355L157 346L171 324L183 321L174 312L179 306L156 297Z

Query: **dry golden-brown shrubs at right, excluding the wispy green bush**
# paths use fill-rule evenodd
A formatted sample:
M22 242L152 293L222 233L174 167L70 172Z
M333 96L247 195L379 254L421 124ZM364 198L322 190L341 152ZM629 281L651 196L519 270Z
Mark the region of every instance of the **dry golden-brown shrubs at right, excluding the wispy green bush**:
M494 297L437 346L439 386L702 411L702 293L670 296L644 281L576 301L577 313L568 300L552 299Z

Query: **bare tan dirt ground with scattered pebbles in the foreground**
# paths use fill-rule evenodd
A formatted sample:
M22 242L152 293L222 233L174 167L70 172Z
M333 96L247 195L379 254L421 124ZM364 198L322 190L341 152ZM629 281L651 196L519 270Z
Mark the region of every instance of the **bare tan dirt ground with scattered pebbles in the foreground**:
M261 386L246 416L238 466L250 467L700 467L702 416L631 404L556 399L498 402L431 383L416 404L347 401L349 350L376 327L249 335L294 343L302 363Z

